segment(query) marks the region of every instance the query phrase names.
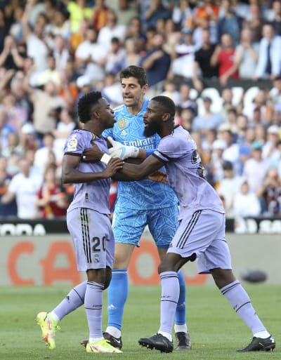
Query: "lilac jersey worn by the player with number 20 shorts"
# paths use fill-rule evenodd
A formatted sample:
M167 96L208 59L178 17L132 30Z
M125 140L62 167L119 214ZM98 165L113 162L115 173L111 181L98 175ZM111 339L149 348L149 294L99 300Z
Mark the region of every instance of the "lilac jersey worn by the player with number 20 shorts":
M74 130L65 142L64 153L82 156L84 149L98 145L102 152L108 154L107 142L103 137L97 137L90 131ZM80 161L78 170L82 173L100 173L106 165L100 161L84 163ZM110 179L100 179L92 182L74 184L74 198L67 211L74 208L90 208L103 214L110 214Z

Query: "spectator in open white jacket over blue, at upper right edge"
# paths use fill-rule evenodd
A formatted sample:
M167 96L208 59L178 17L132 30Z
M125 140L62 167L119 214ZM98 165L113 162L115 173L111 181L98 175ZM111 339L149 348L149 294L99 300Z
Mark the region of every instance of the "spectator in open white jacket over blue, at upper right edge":
M274 79L281 73L281 36L270 23L263 25L262 34L254 79Z

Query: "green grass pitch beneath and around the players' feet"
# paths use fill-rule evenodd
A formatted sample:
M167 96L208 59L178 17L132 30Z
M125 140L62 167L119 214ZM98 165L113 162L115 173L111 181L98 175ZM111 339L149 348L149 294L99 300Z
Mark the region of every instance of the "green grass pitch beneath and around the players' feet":
M215 286L188 286L187 318L192 349L164 354L138 345L138 339L151 336L159 327L159 286L131 286L123 325L123 354L86 354L79 340L88 337L84 308L60 321L56 349L49 350L41 340L34 321L40 311L50 311L71 286L0 287L0 359L2 360L84 360L91 357L110 360L256 360L281 359L281 286L245 284L256 312L277 342L274 352L237 353L247 345L251 332L231 309ZM106 293L104 297L106 321Z

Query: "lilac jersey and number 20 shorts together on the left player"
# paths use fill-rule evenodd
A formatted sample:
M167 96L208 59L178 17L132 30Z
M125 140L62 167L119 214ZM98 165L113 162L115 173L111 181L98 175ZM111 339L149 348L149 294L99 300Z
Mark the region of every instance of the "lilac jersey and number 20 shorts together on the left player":
M84 149L95 142L108 153L107 142L90 131L72 131L65 143L65 154L82 156ZM100 173L106 165L98 162L80 161L82 173ZM115 241L112 232L109 205L110 179L94 180L74 184L74 197L67 208L67 228L72 236L77 258L77 269L112 268Z

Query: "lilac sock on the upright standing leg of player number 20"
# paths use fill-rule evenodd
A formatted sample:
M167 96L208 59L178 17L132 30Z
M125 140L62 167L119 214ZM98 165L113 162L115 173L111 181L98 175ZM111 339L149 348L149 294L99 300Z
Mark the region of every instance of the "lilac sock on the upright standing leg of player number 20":
M87 281L84 306L89 325L89 338L103 338L103 284Z

